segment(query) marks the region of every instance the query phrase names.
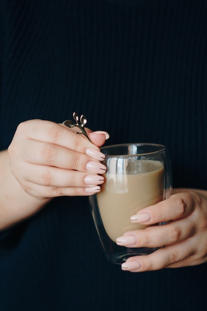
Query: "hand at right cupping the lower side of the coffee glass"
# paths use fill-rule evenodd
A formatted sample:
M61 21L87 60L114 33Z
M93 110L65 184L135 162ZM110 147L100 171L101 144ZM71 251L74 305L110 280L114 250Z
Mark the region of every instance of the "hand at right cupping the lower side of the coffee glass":
M169 223L117 238L118 245L161 247L149 255L130 257L122 264L123 270L143 272L207 262L207 191L174 190L169 199L140 210L131 221L143 225Z

